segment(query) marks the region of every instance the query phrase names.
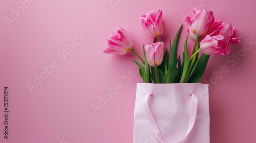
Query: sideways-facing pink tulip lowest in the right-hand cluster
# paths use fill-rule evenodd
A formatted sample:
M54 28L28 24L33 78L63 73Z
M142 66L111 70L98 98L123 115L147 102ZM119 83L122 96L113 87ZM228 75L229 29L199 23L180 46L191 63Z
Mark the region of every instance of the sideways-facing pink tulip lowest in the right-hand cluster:
M221 35L206 35L200 42L200 50L207 55L228 55L229 47L225 38Z

